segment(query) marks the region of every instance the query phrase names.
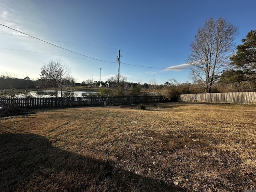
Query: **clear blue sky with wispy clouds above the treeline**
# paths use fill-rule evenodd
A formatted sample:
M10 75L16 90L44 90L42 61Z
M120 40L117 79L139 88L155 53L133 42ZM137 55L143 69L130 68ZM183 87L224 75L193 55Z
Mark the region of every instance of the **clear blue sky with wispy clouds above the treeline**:
M190 82L190 43L209 18L239 27L236 44L256 30L255 0L0 0L0 73L40 78L40 69L62 58L77 82ZM84 56L82 56L84 55ZM87 56L87 57L86 57ZM92 59L95 58L95 59ZM103 61L106 62L103 62Z

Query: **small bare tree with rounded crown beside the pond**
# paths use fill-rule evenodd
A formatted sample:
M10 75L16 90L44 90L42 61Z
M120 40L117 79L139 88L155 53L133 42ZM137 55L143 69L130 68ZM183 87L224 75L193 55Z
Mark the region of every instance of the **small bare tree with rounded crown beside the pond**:
M62 97L62 88L65 78L70 76L71 69L61 58L56 61L51 60L48 64L44 64L41 68L41 80L55 88L55 96L57 97L57 88L60 88Z

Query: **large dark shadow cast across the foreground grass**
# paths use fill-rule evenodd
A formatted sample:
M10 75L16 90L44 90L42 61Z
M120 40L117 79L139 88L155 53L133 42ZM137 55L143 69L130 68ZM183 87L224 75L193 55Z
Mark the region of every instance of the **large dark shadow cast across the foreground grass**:
M185 191L61 150L40 135L0 133L0 191Z

